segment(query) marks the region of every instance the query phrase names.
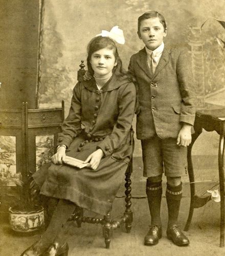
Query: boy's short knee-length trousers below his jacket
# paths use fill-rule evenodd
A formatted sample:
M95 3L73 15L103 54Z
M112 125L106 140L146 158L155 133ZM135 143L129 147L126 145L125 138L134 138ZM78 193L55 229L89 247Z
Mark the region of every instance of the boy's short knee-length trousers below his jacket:
M176 139L160 139L154 136L142 140L144 177L163 174L168 177L180 177L187 173L187 147L176 145Z

